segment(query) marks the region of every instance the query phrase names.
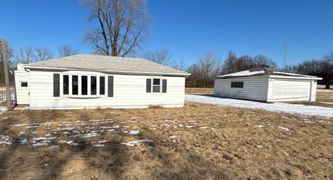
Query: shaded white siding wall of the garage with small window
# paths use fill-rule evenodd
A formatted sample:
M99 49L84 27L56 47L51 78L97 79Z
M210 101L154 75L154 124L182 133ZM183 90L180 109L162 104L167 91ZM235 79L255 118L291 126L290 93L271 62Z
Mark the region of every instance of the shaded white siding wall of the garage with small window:
M232 81L244 82L243 88L231 88ZM215 79L214 95L237 99L267 101L268 78Z

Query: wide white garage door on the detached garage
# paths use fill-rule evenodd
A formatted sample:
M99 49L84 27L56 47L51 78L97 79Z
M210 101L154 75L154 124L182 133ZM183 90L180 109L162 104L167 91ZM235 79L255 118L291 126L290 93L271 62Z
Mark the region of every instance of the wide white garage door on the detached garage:
M273 99L280 101L309 101L311 81L275 80Z

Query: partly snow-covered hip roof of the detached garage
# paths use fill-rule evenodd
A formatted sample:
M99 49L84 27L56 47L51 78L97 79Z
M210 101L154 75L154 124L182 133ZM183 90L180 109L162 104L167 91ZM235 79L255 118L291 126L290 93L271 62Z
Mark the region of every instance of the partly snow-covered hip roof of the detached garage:
M316 76L308 76L303 74L293 74L288 72L282 72L280 70L271 69L268 67L258 67L253 69L248 69L246 71L235 72L232 74L225 74L222 76L216 76L216 79L230 79L230 78L238 78L238 77L246 77L246 76L290 76L290 77L303 77L303 78L317 78Z

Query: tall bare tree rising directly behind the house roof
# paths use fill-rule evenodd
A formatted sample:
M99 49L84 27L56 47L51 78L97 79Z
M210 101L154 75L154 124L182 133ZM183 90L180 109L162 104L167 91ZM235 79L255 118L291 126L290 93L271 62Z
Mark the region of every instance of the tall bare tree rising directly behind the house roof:
M98 26L85 35L96 54L129 56L146 39L150 17L144 0L85 0Z

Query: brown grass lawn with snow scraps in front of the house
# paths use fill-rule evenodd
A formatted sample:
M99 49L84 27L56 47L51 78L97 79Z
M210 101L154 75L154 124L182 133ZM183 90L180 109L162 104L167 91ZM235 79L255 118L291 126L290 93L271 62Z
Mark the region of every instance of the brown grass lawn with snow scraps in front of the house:
M0 179L333 179L332 118L186 105L3 113Z

